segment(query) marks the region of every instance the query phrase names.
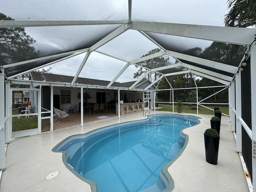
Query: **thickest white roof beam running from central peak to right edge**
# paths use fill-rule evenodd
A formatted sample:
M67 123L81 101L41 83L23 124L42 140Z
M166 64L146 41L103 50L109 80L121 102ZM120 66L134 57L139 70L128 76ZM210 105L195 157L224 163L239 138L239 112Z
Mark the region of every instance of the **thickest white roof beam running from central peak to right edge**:
M255 34L255 29L253 28L248 29L239 27L221 27L160 22L132 21L130 27L134 30L238 45L250 45L254 40Z

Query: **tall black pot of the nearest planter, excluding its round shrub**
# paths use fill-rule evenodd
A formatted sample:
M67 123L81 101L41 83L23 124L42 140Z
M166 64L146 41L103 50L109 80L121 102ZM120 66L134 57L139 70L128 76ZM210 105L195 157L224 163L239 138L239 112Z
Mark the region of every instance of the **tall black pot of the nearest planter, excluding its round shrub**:
M206 162L216 165L218 163L219 137L211 137L204 134L204 147Z

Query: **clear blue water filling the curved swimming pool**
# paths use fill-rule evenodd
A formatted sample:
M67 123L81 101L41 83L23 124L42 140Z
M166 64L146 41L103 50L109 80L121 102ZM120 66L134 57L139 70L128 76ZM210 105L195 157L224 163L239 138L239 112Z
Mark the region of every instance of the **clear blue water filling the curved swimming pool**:
M199 123L193 116L150 115L146 120L107 126L71 136L54 147L66 151L74 170L96 183L98 192L160 192L162 167L183 148L180 131Z

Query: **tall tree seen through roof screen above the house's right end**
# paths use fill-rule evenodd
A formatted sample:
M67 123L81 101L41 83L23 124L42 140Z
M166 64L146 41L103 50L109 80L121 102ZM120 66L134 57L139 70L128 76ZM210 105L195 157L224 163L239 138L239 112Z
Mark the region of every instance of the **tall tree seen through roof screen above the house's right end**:
M150 50L146 55L143 55L142 57L148 56L148 55L160 52L160 51L161 51L160 48L155 48L155 49ZM146 67L148 69L153 69L153 68L158 68L158 67L170 65L170 62L169 62L169 57L168 56L159 56L159 57L156 57L156 58L152 58L152 59L149 59L149 60L139 62L138 65ZM136 67L138 68L139 66L136 66ZM140 69L136 73L134 73L134 78L138 78L139 76L146 73L147 71L148 70L145 70L145 68L140 67ZM156 80L157 77L158 77L158 73L155 72L154 73L154 79ZM150 74L148 74L148 79L151 80L151 75Z

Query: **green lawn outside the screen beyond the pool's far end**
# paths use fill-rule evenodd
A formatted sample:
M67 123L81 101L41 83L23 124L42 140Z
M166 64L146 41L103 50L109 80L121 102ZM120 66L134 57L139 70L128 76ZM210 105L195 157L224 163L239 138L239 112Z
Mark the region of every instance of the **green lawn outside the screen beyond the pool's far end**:
M159 111L171 111L172 112L172 105L169 104L158 104L158 107L162 107L160 109L158 109ZM194 106L192 106L194 107ZM214 109L215 106L207 106L208 108ZM221 110L222 113L229 115L228 112L228 106L218 106ZM198 110L198 114L206 114L206 115L213 115L214 116L214 111L202 107L202 106L198 106L199 110ZM177 112L176 106L174 105L174 112ZM183 105L183 109L182 109L183 113L193 113L196 114L197 110L196 109L191 109L191 107L189 107L188 105Z

